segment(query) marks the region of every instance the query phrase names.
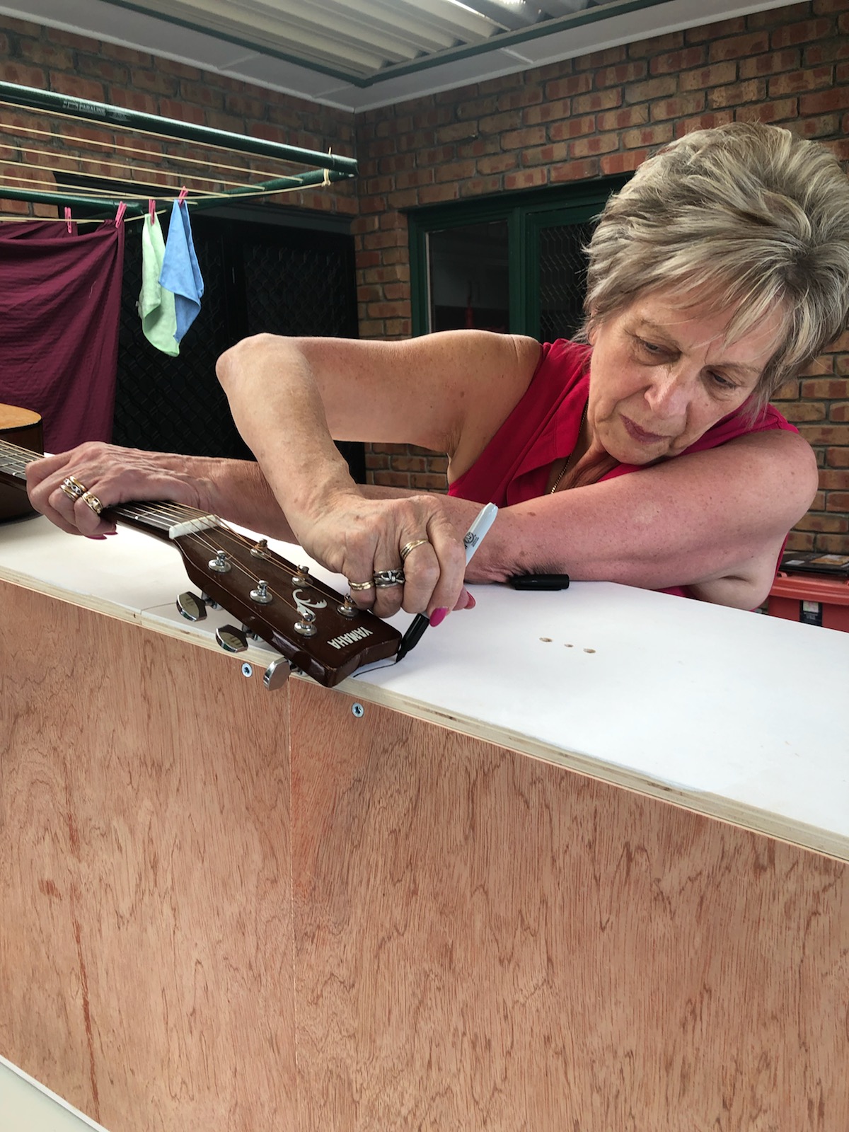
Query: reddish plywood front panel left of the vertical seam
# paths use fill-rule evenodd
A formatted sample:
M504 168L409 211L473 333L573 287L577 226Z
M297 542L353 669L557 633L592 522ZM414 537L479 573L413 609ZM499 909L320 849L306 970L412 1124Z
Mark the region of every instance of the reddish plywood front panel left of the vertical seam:
M288 693L0 599L0 1052L119 1132L294 1130Z

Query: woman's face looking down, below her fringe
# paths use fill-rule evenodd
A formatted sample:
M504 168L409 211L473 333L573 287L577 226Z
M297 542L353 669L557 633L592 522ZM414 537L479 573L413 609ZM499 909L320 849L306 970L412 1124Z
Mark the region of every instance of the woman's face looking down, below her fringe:
M621 464L677 456L749 396L782 331L775 310L734 344L734 311L676 306L654 292L597 326L588 419Z

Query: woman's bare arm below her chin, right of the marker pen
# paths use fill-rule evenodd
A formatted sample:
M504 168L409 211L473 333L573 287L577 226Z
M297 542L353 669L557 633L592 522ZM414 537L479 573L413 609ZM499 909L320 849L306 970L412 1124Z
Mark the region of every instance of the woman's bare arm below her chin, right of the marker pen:
M749 434L504 508L466 580L558 572L650 590L688 585L704 601L752 609L769 593L787 532L816 487L816 461L800 436Z

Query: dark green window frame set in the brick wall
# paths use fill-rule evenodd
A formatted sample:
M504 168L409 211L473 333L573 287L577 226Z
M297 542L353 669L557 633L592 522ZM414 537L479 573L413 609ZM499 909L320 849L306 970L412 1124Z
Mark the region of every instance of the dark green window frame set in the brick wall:
M604 178L408 209L413 336L430 333L430 233L503 221L507 225L508 331L539 338L540 243L544 230L591 223L609 195L627 180L627 177Z

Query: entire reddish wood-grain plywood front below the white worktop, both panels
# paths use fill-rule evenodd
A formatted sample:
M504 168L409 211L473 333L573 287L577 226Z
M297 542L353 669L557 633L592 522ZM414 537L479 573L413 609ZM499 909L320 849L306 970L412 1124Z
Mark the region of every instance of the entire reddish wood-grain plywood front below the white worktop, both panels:
M110 1132L844 1132L849 871L0 584L0 1053Z

